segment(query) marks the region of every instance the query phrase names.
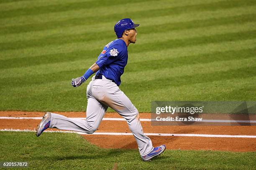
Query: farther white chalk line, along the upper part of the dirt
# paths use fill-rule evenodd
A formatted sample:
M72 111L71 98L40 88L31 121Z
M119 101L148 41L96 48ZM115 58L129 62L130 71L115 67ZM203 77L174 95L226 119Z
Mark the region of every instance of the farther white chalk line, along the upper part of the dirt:
M85 117L69 117L70 119L82 119L85 120ZM0 119L34 119L34 120L41 120L42 117L0 117ZM112 121L126 121L124 118L111 118L111 117L104 117L102 120L112 120ZM150 122L151 119L141 119L142 122ZM152 119L152 121L157 121L156 119ZM158 122L166 122L166 121L158 121ZM173 121L175 122L175 121ZM218 123L256 123L256 120L201 120L196 122L218 122Z

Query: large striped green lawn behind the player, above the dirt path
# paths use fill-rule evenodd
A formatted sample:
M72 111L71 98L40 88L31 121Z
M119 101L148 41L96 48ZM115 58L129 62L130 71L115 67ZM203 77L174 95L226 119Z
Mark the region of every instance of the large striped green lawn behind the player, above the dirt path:
M141 26L120 89L140 112L152 100L256 100L255 0L2 0L0 110L85 111L88 82L70 81L126 17Z

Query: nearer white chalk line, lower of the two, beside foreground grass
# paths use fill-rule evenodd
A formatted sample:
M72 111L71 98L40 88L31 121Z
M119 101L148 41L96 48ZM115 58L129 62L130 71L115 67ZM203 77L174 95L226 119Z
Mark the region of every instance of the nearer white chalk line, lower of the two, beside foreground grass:
M0 129L0 131L8 131L8 132L36 132L36 130L20 130L20 129ZM74 132L67 130L46 130L44 132L48 133L77 133L81 135L127 135L131 136L132 133L113 133L113 132L95 132L92 134L82 133L82 132ZM175 133L144 133L148 136L185 136L185 137L207 137L207 138L256 138L253 135L206 135L206 134L175 134Z

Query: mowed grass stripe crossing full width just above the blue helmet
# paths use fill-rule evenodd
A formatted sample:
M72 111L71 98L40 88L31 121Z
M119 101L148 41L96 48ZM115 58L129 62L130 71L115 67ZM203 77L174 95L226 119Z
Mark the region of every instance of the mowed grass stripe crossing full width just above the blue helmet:
M181 1L183 2L183 1ZM170 5L169 5L170 3ZM254 1L224 1L224 2L213 2L213 3L206 3L206 4L200 4L200 5L187 5L182 7L175 7L171 2L162 2L157 1L154 6L152 3L141 3L136 4L135 6L128 7L130 18L138 18L141 16L147 16L147 17L155 17L155 16L164 16L164 15L179 15L182 13L189 13L189 12L195 12L195 11L207 11L207 10L218 10L218 9L230 9L233 7L249 7L252 5L256 5L256 2ZM143 6L141 8L140 6ZM185 4L184 4L185 5ZM123 6L122 6L123 7ZM31 30L43 30L43 29L52 29L56 27L68 27L70 25L90 25L94 23L101 23L102 20L105 20L106 22L112 21L112 20L119 20L120 18L126 18L127 12L122 10L122 7L113 6L111 9L116 8L117 10L111 10L111 11L105 11L102 13L102 10L100 10L100 13L97 13L95 15L95 10L92 11L92 16L89 16L87 13L88 10L82 11L80 14L76 14L75 18L71 18L71 14L76 13L77 11L72 11L72 13L62 14L62 13L54 13L53 16L50 14L47 14L47 16L42 15L36 15L36 16L24 16L19 18L9 18L9 19L1 19L0 23L2 26L1 32L3 33L18 33L20 31L26 32ZM106 10L106 9L105 9ZM113 14L111 14L113 13ZM108 15L106 15L108 14ZM86 17L82 18L82 16L86 15ZM79 16L79 17L78 17ZM78 17L78 18L77 18ZM45 19L44 19L45 18ZM61 20L61 18L64 18L64 20ZM71 18L71 19L67 19ZM8 21L7 21L8 20ZM33 21L33 22L32 22ZM49 22L50 21L50 22ZM31 25L32 24L32 25ZM18 28L17 28L18 27Z

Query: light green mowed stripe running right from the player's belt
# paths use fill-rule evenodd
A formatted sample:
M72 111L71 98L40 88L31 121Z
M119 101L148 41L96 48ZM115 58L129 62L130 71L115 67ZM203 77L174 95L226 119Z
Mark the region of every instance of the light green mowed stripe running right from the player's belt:
M241 55L241 59L234 59L232 57L230 60L216 60L213 62L197 62L194 64L189 64L187 62L184 65L169 65L169 67L159 67L158 69L150 70L150 75L148 76L147 70L140 70L137 72L128 72L126 71L125 74L122 76L122 85L123 87L127 82L134 82L140 83L141 77L144 77L143 80L154 80L156 77L176 77L176 76L186 76L186 75L196 75L202 72L204 73L212 73L216 70L218 71L228 71L232 68L241 68L241 67L248 67L248 66L255 66L256 60L253 57L246 57L243 59L243 55ZM197 59L196 59L197 60ZM199 61L199 59L197 60ZM168 74L166 74L168 73Z

